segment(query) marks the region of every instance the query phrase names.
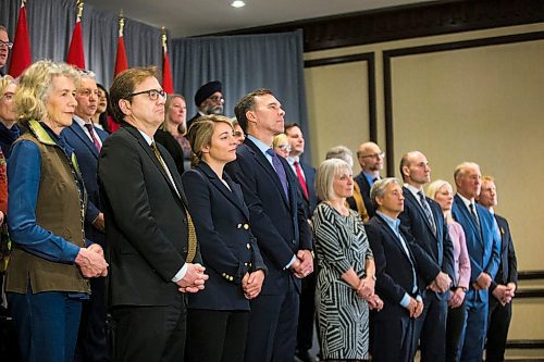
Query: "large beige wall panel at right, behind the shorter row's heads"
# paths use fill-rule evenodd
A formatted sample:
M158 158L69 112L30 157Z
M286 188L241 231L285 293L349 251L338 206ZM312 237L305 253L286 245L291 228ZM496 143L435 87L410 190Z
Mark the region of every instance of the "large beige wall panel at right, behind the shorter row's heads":
M392 60L395 162L419 149L433 178L465 160L494 175L520 270L543 269L543 59L528 41Z

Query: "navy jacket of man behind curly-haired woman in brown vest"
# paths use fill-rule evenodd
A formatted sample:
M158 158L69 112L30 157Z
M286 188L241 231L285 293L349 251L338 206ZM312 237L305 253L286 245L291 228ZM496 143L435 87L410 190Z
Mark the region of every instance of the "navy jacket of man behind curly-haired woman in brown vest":
M97 127L94 128L95 133L103 142L109 135L102 129ZM103 247L104 234L92 226L92 222L102 210L100 207L100 192L97 182L98 150L89 136L87 136L87 133L75 121L71 126L62 130L62 137L64 137L66 142L74 149L77 164L82 172L83 182L87 189L88 203L85 214L85 236L92 242L98 242Z

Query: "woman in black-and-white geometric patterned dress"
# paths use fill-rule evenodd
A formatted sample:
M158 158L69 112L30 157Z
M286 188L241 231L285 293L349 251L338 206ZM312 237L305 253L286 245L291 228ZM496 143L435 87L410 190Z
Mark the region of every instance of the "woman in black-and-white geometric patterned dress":
M381 310L383 301L374 294L374 258L364 226L346 205L354 191L351 167L339 159L323 161L316 188L323 200L313 213L321 355L323 361L367 360L369 307Z

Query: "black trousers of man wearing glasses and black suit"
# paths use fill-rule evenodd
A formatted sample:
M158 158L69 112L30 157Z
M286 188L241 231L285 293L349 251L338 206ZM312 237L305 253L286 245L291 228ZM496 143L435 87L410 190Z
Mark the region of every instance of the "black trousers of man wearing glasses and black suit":
M186 296L170 305L126 305L111 311L115 362L180 362L185 355Z

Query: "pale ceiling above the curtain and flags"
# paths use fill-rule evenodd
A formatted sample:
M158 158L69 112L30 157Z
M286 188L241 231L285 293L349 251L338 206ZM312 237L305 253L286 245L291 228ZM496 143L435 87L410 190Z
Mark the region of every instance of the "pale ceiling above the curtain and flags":
M125 17L166 27L172 37L222 33L246 27L398 7L430 0L86 0L108 12L123 10Z

